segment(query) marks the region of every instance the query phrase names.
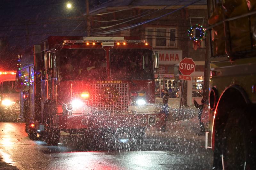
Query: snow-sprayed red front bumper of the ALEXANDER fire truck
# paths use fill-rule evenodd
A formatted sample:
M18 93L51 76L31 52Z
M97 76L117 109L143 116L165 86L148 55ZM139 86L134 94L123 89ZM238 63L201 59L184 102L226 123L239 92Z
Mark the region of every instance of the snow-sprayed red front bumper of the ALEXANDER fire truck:
M63 131L120 127L156 127L160 129L165 123L164 113L62 115L58 118L59 128Z

